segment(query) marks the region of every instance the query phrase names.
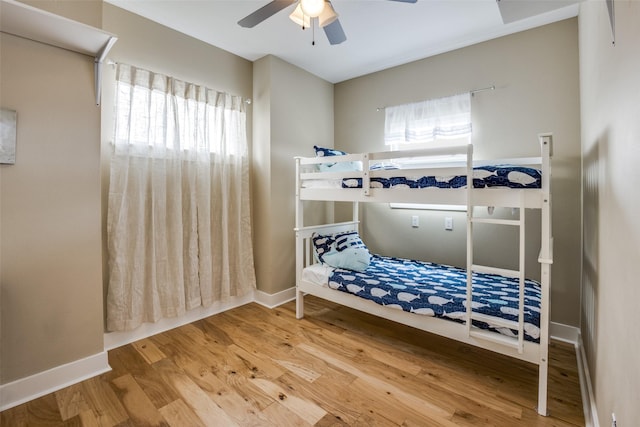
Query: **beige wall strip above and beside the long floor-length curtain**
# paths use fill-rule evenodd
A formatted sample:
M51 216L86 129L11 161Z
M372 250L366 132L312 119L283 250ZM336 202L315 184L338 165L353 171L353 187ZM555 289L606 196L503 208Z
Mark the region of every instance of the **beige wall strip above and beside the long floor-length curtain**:
M113 62L126 63L176 77L233 95L251 98L253 64L222 49L188 37L148 19L103 5L105 31L116 34L118 42L109 54ZM108 284L106 218L109 185L110 141L113 137L113 95L115 67L106 66L102 100L102 218L104 292ZM247 107L247 137L251 144L252 108Z

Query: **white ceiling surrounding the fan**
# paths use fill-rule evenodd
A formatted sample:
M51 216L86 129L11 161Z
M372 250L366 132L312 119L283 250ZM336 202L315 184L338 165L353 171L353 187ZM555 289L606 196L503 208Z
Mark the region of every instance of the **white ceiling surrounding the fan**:
M275 55L331 83L578 14L579 0L333 0L347 40L302 30L289 6L254 28L237 22L270 0L106 0L255 61Z

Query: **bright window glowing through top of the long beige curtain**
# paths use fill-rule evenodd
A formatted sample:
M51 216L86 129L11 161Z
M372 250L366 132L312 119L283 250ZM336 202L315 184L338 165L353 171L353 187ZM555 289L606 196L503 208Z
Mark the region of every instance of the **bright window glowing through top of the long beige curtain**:
M204 153L246 156L243 144L229 144L244 126L243 101L217 92L121 64L118 70L115 144L147 149L156 155ZM145 149L146 147L146 149Z

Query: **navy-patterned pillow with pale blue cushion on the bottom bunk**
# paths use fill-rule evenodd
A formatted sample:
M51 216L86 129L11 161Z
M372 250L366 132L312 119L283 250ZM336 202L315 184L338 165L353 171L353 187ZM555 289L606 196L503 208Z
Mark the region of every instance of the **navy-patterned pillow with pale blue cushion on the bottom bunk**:
M334 268L364 271L371 255L357 231L311 236L318 260Z

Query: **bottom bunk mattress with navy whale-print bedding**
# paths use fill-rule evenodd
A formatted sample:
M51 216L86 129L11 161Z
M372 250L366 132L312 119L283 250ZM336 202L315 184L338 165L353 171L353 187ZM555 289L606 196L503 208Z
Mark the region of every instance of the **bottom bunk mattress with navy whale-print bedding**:
M467 271L457 267L372 255L363 272L314 264L303 270L302 279L417 315L460 323L466 319ZM518 279L473 274L474 312L518 321L518 301ZM540 303L540 284L525 280L524 339L536 343L540 340ZM475 320L473 324L517 337L515 330Z

